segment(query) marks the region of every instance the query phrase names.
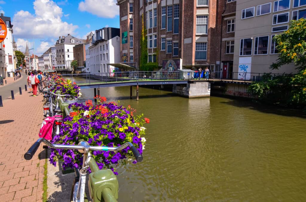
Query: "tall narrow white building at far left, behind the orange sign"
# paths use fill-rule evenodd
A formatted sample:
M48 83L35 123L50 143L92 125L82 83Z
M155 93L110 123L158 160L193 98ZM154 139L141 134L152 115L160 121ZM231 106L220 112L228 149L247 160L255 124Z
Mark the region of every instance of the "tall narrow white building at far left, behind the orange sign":
M15 72L14 67L14 53L13 53L13 25L11 25L11 18L3 16L1 13L1 19L6 23L7 35L4 39L4 48L5 48L5 61L6 61L6 73L8 77L13 77ZM6 76L6 75L5 75Z

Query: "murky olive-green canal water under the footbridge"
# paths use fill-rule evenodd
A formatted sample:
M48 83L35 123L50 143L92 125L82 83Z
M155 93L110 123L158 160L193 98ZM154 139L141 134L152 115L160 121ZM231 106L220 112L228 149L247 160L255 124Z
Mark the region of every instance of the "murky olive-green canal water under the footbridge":
M82 90L79 102L93 99ZM305 117L220 97L100 88L150 118L144 161L118 168L119 201L306 201Z

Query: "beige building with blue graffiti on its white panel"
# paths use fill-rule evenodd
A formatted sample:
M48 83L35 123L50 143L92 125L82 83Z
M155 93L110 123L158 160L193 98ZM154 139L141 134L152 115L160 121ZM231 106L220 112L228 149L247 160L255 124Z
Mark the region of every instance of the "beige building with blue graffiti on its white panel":
M290 20L306 16L302 0L237 0L232 76L254 80L263 72L296 73L293 64L269 69L278 59L273 37L288 30ZM229 70L230 71L230 70Z

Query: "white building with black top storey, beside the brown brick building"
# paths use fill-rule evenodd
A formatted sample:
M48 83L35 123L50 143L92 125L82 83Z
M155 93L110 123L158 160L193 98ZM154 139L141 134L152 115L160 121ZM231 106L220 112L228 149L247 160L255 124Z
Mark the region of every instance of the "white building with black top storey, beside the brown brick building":
M88 51L91 74L112 73L114 67L109 64L120 63L120 29L105 27L96 30Z

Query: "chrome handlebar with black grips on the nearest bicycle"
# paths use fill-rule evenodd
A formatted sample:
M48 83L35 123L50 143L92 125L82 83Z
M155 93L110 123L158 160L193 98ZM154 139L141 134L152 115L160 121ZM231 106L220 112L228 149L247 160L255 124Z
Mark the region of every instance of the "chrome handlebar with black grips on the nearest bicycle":
M129 146L130 149L133 152L133 155L135 159L138 162L141 162L143 160L142 155L140 155L139 151L136 149L136 147L131 142L126 142L121 146L117 147L107 147L107 146L90 146L88 145L88 142L82 141L78 145L60 145L60 144L52 144L48 140L44 138L39 138L34 144L30 147L30 149L24 154L25 160L31 160L35 152L37 151L39 145L41 142L44 142L47 146L53 148L53 149L68 149L68 150L86 150L88 151L120 151L123 150L125 147Z

